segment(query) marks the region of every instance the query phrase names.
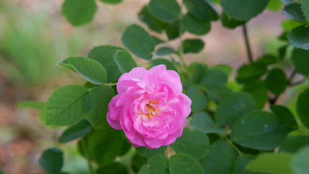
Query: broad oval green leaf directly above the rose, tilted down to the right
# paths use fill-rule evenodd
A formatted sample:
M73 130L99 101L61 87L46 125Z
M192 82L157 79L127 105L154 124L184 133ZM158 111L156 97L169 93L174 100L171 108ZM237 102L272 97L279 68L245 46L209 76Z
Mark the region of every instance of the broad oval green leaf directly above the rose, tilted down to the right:
M150 60L154 51L154 42L141 26L133 24L126 28L121 37L122 44L133 54Z

